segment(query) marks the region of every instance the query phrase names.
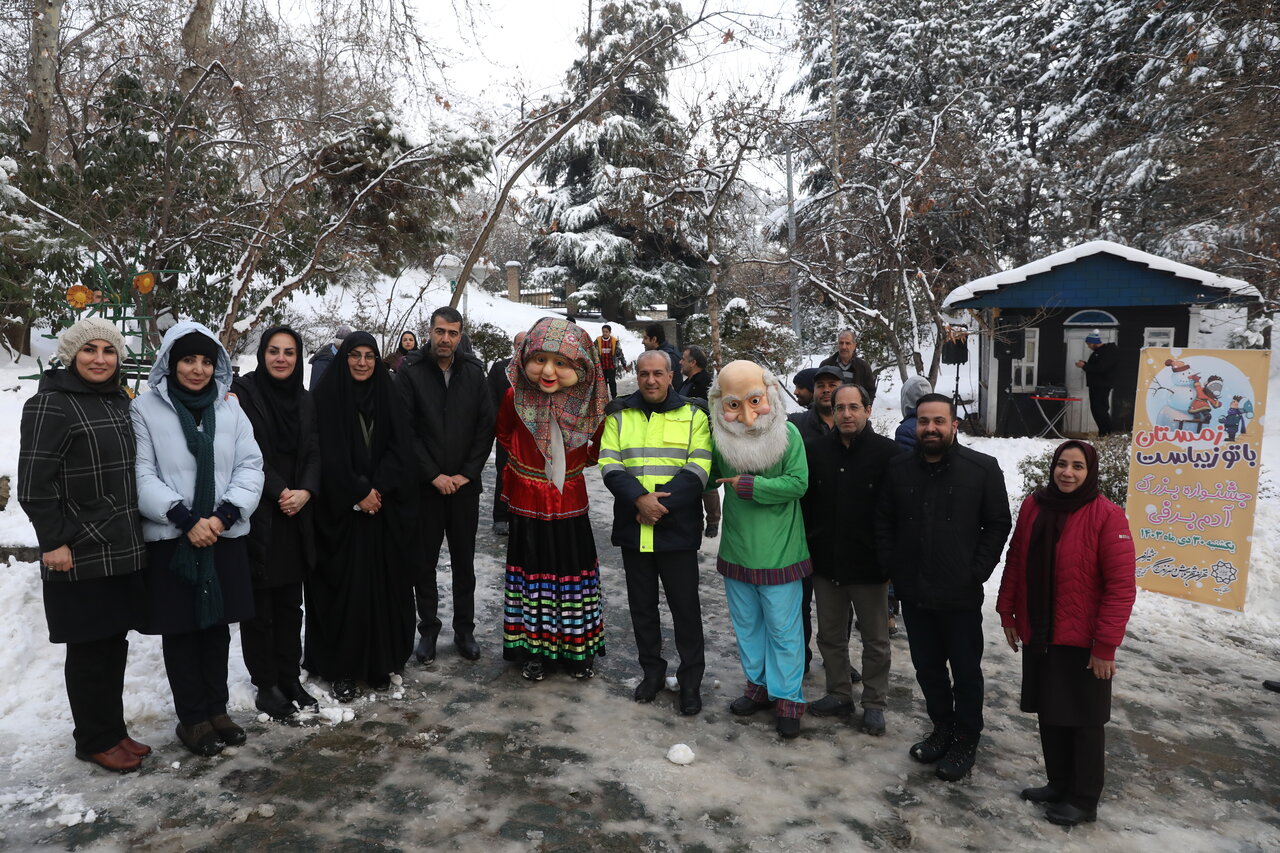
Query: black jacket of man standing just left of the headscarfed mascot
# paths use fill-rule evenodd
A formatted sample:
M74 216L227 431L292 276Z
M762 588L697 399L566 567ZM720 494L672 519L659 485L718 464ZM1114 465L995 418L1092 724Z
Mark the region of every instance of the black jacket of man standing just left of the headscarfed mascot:
M497 419L480 360L456 352L445 388L435 359L406 359L396 387L408 409L422 488L434 491L431 480L440 474L461 474L471 482L458 493L479 494Z

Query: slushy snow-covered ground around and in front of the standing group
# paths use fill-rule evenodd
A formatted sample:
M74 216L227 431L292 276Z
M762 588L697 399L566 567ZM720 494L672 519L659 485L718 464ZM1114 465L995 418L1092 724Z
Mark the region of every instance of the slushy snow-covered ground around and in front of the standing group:
M545 314L479 291L468 296L468 309L472 320L494 323L512 333ZM598 333L598 323L584 325ZM627 356L634 359L641 348L639 342L614 328L625 336ZM251 359L242 364L251 369ZM1280 392L1280 371L1275 368L1270 391L1272 400L1280 400L1274 396ZM12 476L17 469L19 414L36 384L18 377L32 371L33 362L26 359L0 366L0 475ZM961 393L968 393L973 373L968 368L961 371ZM940 384L942 392L950 393L951 377ZM882 432L896 424L896 386L882 386L874 411ZM1274 496L1275 473L1280 470L1280 424L1265 424L1265 435L1262 488ZM1000 460L1015 506L1024 492L1016 474L1019 460L1052 444L1032 438L964 441ZM402 835L379 844L408 848L435 839L430 843L440 847L475 849L484 844L494 850L1280 849L1280 761L1275 752L1280 744L1280 695L1260 686L1263 678L1280 678L1280 501L1258 505L1243 613L1139 590L1117 656L1111 766L1100 822L1068 834L1046 824L1036 807L1016 798L1021 785L1043 780L1034 722L1016 711L1018 660L1004 646L993 612L1000 570L988 583L986 606L986 745L974 776L948 786L933 780L928 768L906 760L908 745L925 724L901 638L893 646L890 733L884 738L872 739L842 724L806 719L800 740L781 743L772 736L763 715L744 722L723 711L736 694L741 674L722 588L708 560L714 555L713 542L707 544L703 567L709 644L707 711L685 720L659 712L657 704L632 703L636 665L620 560L607 546L608 494L598 476L589 479L594 480L598 542L605 543L600 561L612 620L611 653L593 684L549 679L530 688L495 660L500 644L495 615L502 543L490 540L483 528L477 575L484 580L477 606L486 657L480 665L442 653L436 669L411 667L404 683L383 695L347 708L326 698L321 715L308 721L311 729L255 724L250 744L218 760L193 760L175 747L159 638L131 635L124 712L131 731L159 752L141 774L125 777L110 776L72 757L72 722L60 678L63 649L47 642L37 567L10 562L0 571L0 672L5 674L5 688L0 690L0 756L6 757L0 768L0 848L27 849L47 843L67 848L87 844L92 849L189 849L206 844L211 845L206 849L227 849L219 847L218 839L230 844L227 839L233 836L225 833L233 825L264 821L273 825L270 839L280 843L280 849L294 849L285 843L289 833L314 843L367 840L370 836L358 827L385 820L401 821ZM0 543L35 543L15 500L0 512ZM442 573L442 579L447 576ZM234 631L230 666L232 713L251 721L253 690ZM806 679L810 699L822 694L820 674L815 667L815 675ZM421 751L421 758L413 760L417 763L370 765L369 733L379 726L404 729L407 734L397 735L399 740L392 745L408 744ZM321 735L315 731L332 734L317 742L315 738ZM567 745L557 745L562 743ZM677 767L666 761L675 743L694 748L692 766ZM402 789L426 792L421 815L393 820L389 812L379 811L381 799L361 800L358 790L349 793L360 803L352 803L351 815L344 813L344 806L335 806L324 812L323 820L297 806L292 811L280 807L276 813L275 804L255 798L250 781L279 775L278 768L293 761L320 761L334 754L347 754L351 761L339 761L324 771L332 776L312 780L319 792L312 792L315 797L347 792L343 785L352 783L344 775L356 772L352 767L364 767L381 774L371 777L370 789L376 784L384 793L401 792L397 797ZM531 756L541 757L534 761ZM511 762L516 770L507 766ZM502 775L512 772L516 775ZM539 794L544 785L568 792L564 795L570 800ZM614 802L613 794L600 792L613 792L621 799ZM164 804L166 798L201 803L198 817ZM548 811L539 811L539 803L549 803ZM602 808L604 818L599 817ZM599 826L584 824L596 826L599 833L582 829L575 838L572 816L580 813L603 821ZM513 836L516 830L511 827L525 829ZM84 834L76 834L82 830ZM301 849L308 844L297 845Z

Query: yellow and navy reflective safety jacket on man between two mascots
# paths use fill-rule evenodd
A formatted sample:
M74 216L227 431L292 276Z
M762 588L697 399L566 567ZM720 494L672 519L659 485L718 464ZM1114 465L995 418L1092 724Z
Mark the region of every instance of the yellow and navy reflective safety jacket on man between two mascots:
M648 407L640 392L607 410L600 473L613 492L613 544L641 552L696 551L703 543L703 491L712 467L707 412L673 389ZM636 521L636 498L668 492L658 524Z

